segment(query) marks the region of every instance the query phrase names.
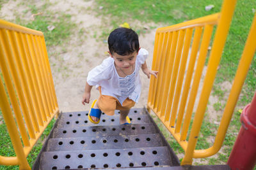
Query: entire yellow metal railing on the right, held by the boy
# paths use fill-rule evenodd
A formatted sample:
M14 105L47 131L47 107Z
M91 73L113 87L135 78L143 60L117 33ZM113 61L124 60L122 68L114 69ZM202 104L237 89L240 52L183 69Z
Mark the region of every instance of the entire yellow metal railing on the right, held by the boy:
M150 79L147 107L148 110L153 110L156 113L184 149L185 155L181 162L182 165L192 164L193 158L209 157L220 150L252 62L255 52L256 21L253 22L254 26L252 26L252 31L244 48L214 145L205 150L195 150L235 6L236 1L226 0L223 2L221 13L159 28L156 31L152 69L159 71L159 76L157 79ZM191 132L188 136L189 123L214 25L217 28L209 55L207 72L204 77L202 92L199 94Z

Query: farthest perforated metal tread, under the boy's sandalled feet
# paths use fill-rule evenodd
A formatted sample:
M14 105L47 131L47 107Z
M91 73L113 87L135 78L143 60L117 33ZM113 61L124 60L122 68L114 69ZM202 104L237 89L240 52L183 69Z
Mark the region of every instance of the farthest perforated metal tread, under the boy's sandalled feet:
M99 126L99 125L120 125L119 115L102 115L99 124L93 124L88 117L60 117L57 127L78 127L78 126ZM132 124L148 124L150 118L148 115L129 115Z

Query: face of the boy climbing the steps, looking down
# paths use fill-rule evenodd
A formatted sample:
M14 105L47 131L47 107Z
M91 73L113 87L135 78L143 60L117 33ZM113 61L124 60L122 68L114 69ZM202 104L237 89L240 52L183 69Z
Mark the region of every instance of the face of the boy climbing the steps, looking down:
M111 55L111 53L109 52ZM131 69L131 67L136 62L136 57L138 55L138 52L133 52L129 55L118 55L118 53L113 53L111 57L115 60L115 65L119 69L125 70L125 69Z

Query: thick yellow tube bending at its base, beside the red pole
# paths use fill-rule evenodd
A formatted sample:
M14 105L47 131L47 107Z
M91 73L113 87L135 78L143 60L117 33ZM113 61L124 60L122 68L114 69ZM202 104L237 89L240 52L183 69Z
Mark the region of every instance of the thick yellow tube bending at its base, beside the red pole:
M228 125L226 122L230 122L232 118L232 113L236 106L237 99L243 87L244 80L246 78L246 74L250 68L252 63L253 55L256 50L256 13L254 15L253 24L251 30L248 34L248 38L246 44L244 46L244 51L239 62L239 66L237 68L236 76L234 78L234 83L232 85L232 89L230 90L230 96L228 97L227 104L223 111L223 118L221 118L220 127L216 134L216 139L214 145L211 148L205 150L195 150L194 156L195 158L200 157L209 157L218 152L221 148L221 143L225 138L225 132L227 131ZM223 129L225 129L223 131ZM221 141L216 143L216 141Z

